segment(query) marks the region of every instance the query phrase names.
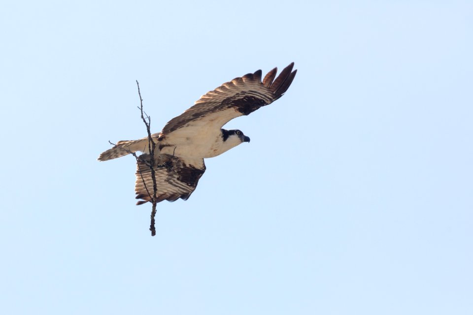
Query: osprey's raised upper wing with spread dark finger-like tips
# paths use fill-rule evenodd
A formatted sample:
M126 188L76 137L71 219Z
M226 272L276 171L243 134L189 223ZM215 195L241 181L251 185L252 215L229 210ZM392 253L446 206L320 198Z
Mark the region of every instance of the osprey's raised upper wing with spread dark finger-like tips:
M294 79L297 70L294 63L285 67L274 80L277 68L272 69L261 81L261 70L248 73L222 84L198 99L194 106L171 119L161 132L162 136L187 126L207 125L212 122L218 128L230 120L248 115L281 97ZM156 136L158 134L155 134Z

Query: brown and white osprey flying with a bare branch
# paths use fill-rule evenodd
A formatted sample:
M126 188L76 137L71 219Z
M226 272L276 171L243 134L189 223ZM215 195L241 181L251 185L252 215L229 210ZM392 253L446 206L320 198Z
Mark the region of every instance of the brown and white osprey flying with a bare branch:
M268 72L263 81L261 70L258 70L224 83L171 119L160 133L152 134L156 143L157 202L187 200L205 172L204 158L216 157L240 143L250 142L250 138L240 130L222 127L230 120L248 115L281 97L296 76L297 70L292 71L293 66L291 63L285 67L275 80L277 68ZM152 193L147 190L153 187L148 142L148 137L118 141L98 158L106 161L132 152L143 152L137 158L135 192L136 199L141 199L137 205L151 201Z

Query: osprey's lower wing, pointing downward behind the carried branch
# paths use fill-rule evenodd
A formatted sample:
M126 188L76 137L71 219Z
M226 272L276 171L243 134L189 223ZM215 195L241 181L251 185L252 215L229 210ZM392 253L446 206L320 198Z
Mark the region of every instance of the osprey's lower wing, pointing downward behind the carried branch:
M153 196L153 179L149 162L149 154L138 157L135 192L136 199L142 200L139 200L137 205L151 201ZM175 201L179 198L187 200L205 172L205 164L203 159L184 160L170 155L161 155L155 162L154 172L157 202Z

